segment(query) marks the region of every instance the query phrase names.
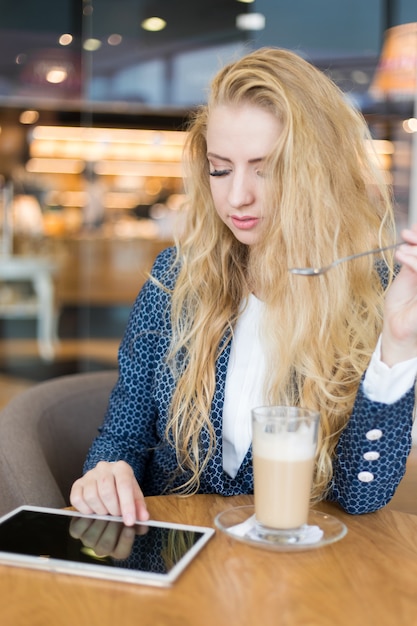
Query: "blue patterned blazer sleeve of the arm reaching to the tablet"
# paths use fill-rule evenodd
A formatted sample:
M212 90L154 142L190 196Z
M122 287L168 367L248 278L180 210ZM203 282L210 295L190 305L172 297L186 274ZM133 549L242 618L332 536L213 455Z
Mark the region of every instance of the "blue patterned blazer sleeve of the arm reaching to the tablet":
M172 249L165 250L152 269L152 275L165 281L168 289L166 277L170 276L172 257ZM131 310L119 347L119 377L99 434L88 452L84 472L99 461L124 460L142 482L146 464L158 443L153 390L161 354L166 351L169 310L169 291L148 280Z

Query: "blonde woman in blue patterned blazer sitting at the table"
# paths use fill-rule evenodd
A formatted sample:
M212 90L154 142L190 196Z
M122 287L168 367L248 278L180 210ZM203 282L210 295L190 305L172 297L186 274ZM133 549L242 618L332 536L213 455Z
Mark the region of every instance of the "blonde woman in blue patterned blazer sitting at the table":
M186 225L156 259L72 504L146 520L144 495L253 490L250 410L320 411L312 501L385 505L411 444L417 228L322 277L291 267L395 240L362 118L297 55L222 69L190 125ZM386 291L388 289L388 291Z

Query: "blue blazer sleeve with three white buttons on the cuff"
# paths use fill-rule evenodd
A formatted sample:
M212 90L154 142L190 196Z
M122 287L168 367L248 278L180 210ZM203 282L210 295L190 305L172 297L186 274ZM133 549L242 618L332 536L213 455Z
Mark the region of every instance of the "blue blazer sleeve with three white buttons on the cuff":
M393 404L369 400L360 386L333 463L328 499L352 514L387 504L404 476L411 448L414 386Z

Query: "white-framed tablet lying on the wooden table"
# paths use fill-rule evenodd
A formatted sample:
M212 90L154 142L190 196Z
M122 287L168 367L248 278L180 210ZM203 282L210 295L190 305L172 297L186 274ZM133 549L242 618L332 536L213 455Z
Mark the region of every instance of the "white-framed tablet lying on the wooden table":
M0 518L0 564L169 586L213 528L22 506Z

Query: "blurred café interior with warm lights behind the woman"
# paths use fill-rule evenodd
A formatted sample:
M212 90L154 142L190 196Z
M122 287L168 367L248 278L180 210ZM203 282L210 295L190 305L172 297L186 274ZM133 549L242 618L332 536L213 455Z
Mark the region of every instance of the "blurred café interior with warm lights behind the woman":
M0 0L0 405L116 366L177 227L187 116L269 45L363 113L398 228L416 221L415 0Z

